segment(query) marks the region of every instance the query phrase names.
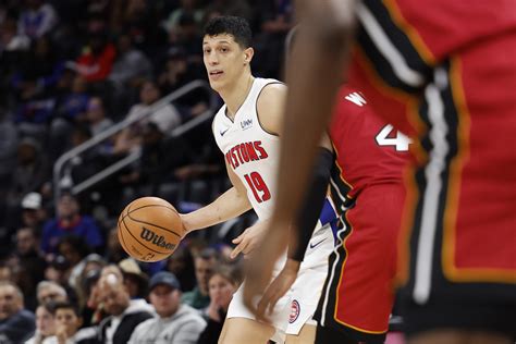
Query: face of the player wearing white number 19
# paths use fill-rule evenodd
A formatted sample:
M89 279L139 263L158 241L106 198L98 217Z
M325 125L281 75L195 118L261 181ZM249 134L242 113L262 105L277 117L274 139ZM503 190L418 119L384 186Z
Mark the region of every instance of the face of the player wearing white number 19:
M202 59L211 88L217 91L234 84L248 69L253 48L243 49L232 35L205 36Z

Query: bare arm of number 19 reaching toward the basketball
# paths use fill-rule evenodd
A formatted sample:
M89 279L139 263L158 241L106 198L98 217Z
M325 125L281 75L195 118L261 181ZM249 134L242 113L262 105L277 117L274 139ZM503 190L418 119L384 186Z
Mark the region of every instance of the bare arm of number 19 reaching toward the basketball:
M225 168L233 187L223 193L211 204L193 212L182 213L181 220L183 221L186 232L205 229L228 221L229 219L236 218L251 208L245 186L228 163L225 164Z

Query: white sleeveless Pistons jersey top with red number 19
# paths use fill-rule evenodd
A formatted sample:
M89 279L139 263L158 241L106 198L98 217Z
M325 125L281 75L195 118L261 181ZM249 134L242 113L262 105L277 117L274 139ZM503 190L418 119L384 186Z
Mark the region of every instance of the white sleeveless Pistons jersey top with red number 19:
M247 198L260 220L270 218L274 206L280 138L261 127L257 100L263 87L274 83L281 82L255 78L234 121L228 118L224 105L217 112L212 125L217 145L226 163L245 185Z

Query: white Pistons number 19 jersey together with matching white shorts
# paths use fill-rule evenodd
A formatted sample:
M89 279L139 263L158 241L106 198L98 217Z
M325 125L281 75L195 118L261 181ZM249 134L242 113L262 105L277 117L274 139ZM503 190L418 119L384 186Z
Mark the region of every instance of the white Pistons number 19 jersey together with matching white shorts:
M212 125L217 145L224 155L226 163L245 185L247 198L260 220L269 219L274 208L280 138L266 132L261 126L258 120L257 100L263 87L274 83L280 82L255 78L247 98L235 113L234 121L228 118L224 105L217 112ZM278 300L270 314L272 324L277 329L272 340L278 343L283 343L285 333L298 334L305 323L315 323L311 317L327 275L328 256L334 245L332 226L335 219L334 207L327 198L299 268L299 278L291 291ZM273 277L281 271L285 259L286 251L277 261L272 271ZM244 306L242 297L241 285L233 295L228 318L255 319Z

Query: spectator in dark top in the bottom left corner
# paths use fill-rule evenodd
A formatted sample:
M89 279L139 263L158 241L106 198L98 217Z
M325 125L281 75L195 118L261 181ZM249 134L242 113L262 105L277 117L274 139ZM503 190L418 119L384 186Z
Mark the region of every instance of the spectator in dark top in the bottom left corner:
M0 343L23 343L35 330L34 314L24 309L16 284L0 282Z

